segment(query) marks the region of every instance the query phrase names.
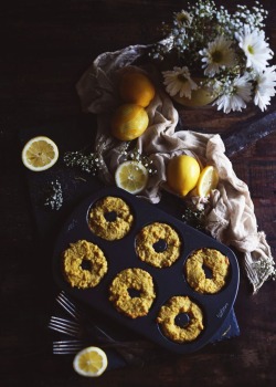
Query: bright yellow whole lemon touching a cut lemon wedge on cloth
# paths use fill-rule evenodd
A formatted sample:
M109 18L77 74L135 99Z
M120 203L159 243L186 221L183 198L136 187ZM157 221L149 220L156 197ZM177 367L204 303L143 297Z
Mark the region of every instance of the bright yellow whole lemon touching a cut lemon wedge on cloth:
M187 196L198 182L200 165L194 157L180 155L172 157L167 166L167 182L181 196Z

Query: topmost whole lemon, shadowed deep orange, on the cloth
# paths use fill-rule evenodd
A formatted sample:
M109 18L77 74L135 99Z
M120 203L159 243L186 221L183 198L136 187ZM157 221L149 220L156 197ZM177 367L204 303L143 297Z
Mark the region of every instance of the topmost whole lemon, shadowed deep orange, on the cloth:
M147 107L156 94L152 82L144 74L129 72L119 82L119 94L125 102Z

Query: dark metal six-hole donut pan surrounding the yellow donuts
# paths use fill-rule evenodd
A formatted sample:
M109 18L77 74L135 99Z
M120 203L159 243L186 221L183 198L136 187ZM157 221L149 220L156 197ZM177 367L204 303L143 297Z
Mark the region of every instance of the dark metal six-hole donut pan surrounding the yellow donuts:
M87 218L91 207L106 196L121 198L132 211L135 219L132 228L121 240L103 240L95 236L88 227ZM170 268L153 268L140 261L136 254L136 236L142 227L151 222L168 223L179 233L182 242L181 254ZM62 273L62 252L68 248L70 243L75 243L78 240L87 240L97 244L103 250L108 262L107 273L94 289L79 290L72 287L64 280ZM185 281L185 260L194 250L202 248L216 249L230 260L230 275L226 285L216 294L200 294L192 290ZM108 289L112 281L117 273L128 268L140 268L149 272L156 287L156 299L147 316L134 320L119 313L108 300ZM54 248L53 272L57 285L75 299L167 349L180 354L195 352L212 339L231 312L240 282L238 264L231 249L201 231L184 224L146 200L138 199L134 195L116 187L105 188L85 199L65 221ZM156 322L160 307L173 295L189 296L203 312L204 330L193 342L182 344L172 342L162 334Z

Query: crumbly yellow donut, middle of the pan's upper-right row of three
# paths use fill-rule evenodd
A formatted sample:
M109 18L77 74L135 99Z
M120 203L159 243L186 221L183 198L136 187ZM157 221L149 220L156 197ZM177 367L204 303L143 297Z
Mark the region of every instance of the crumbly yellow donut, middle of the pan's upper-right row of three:
M155 250L155 243L163 240L166 249ZM181 241L173 228L167 223L155 222L144 227L136 238L136 253L139 259L155 268L168 268L180 257Z

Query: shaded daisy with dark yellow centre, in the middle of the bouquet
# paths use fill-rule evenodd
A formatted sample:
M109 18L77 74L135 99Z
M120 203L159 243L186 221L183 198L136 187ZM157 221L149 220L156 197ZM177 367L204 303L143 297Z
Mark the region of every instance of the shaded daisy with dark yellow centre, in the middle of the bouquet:
M203 56L202 69L205 75L213 76L219 73L221 67L232 67L235 64L235 53L231 49L231 41L223 35L217 36L213 42L208 44L206 49L199 53Z

